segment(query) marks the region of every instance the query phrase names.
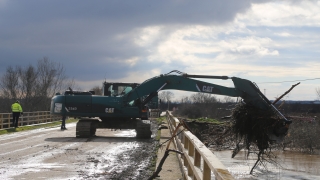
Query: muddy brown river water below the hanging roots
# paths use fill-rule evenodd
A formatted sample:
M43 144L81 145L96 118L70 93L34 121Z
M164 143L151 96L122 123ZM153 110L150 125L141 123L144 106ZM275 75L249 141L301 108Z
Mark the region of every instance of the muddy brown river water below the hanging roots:
M304 179L320 180L320 155L310 155L300 152L274 152L276 164L260 164L253 175L250 170L256 162L256 155L246 157L241 151L235 158L231 158L231 150L215 151L214 154L227 167L235 179Z

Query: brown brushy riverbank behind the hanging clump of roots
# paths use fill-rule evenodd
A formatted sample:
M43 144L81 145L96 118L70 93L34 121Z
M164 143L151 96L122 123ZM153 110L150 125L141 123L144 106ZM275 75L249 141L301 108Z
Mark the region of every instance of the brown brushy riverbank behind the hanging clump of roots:
M273 149L303 151L317 153L320 150L320 114L308 116L291 115L289 130L283 142L272 144ZM183 119L192 133L198 137L207 147L213 150L233 150L236 148L236 134L232 127L233 120L223 121L221 124L197 122L196 120Z

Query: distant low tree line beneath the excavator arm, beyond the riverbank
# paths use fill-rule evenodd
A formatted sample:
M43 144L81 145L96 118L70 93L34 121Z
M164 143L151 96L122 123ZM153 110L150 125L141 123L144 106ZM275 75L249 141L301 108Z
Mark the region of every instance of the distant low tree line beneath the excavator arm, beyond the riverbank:
M320 99L320 88L316 89ZM225 97L218 99L217 96L207 93L195 93L182 97L179 101L172 101L174 94L170 91L163 91L159 94L161 99L160 109L175 111L174 114L190 119L208 117L220 119L231 114L236 105L234 99ZM287 103L285 101L276 104L284 114L320 113L320 104Z

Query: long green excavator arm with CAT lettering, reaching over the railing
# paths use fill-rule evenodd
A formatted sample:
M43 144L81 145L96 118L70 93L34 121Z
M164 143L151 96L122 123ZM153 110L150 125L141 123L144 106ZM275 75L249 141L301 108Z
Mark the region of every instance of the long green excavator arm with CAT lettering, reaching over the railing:
M191 78L207 78L207 79L221 79L233 81L234 87L224 87L212 83L207 83ZM268 100L259 88L251 81L241 79L238 77L228 76L210 76L210 75L160 75L152 79L146 80L140 86L132 90L126 95L126 101L130 102L141 96L149 95L153 97L157 95L160 90L183 90L191 92L201 92L217 95L225 95L230 97L241 97L243 101L254 107L262 110L272 109L285 122L291 123L287 120ZM147 98L148 99L148 98ZM147 103L147 102L144 102Z

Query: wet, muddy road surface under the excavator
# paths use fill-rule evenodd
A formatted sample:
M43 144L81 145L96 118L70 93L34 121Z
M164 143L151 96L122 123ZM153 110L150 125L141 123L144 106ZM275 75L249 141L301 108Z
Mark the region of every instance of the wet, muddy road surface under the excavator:
M0 136L0 179L145 179L156 141L135 130L97 129L76 138L75 123Z

